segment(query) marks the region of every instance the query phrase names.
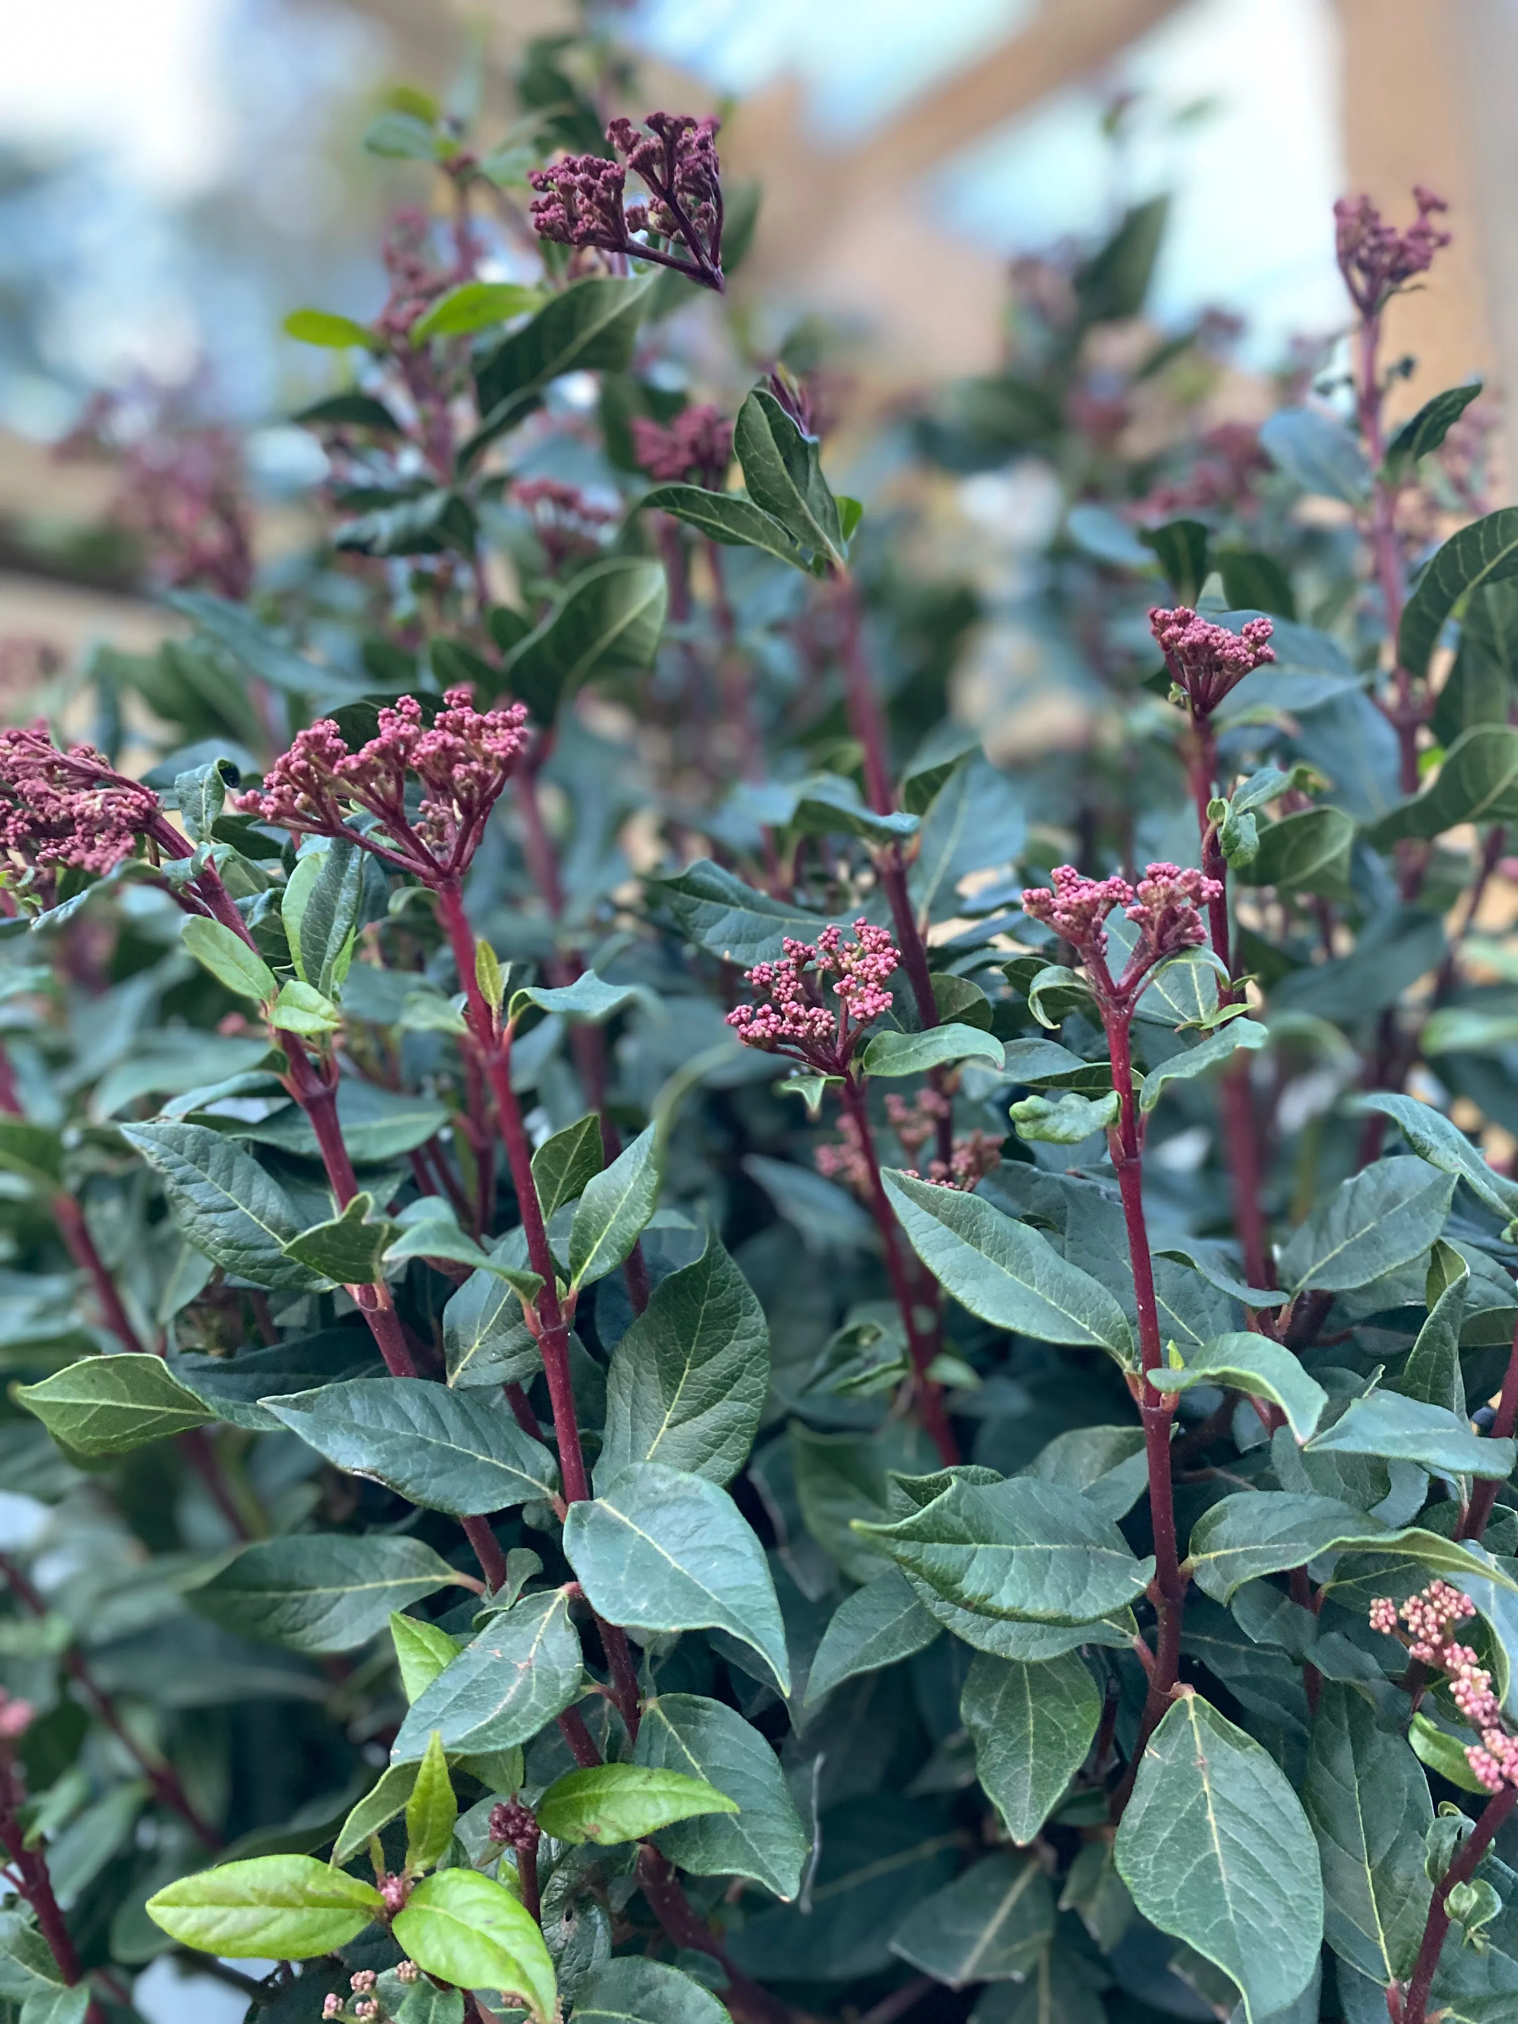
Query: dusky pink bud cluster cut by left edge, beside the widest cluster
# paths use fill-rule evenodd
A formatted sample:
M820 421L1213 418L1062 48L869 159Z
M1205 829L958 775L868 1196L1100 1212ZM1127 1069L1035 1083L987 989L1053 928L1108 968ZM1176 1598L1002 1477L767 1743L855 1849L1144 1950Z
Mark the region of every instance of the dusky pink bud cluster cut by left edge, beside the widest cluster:
M45 723L0 731L0 850L12 868L109 872L142 836L180 854L158 795L111 769L93 745L59 751Z

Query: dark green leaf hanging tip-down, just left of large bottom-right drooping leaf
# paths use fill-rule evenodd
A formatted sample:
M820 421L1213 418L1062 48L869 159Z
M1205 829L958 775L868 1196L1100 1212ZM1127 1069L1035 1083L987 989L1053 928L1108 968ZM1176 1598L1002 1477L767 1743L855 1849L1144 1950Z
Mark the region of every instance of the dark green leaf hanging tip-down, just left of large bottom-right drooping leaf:
M1101 1694L1075 1652L1036 1666L978 1652L959 1714L976 1745L976 1777L1026 1846L1087 1759L1101 1720Z

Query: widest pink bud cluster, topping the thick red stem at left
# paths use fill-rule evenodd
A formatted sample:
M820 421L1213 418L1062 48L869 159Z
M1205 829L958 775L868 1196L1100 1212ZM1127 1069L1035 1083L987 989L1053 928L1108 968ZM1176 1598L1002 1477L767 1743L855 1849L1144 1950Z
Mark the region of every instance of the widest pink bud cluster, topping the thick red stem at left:
M526 708L476 710L468 688L449 688L443 702L427 725L415 696L401 696L356 753L324 716L233 808L298 834L348 838L423 884L457 878L526 749ZM423 789L417 808L407 806L409 777ZM378 818L381 832L350 828L350 808Z

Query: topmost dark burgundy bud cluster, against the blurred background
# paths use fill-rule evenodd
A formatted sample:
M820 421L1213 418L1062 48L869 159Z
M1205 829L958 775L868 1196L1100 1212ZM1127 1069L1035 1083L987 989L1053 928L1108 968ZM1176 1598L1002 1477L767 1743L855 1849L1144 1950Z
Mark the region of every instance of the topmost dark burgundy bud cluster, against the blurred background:
M569 154L553 168L534 168L538 196L530 215L538 237L567 247L599 247L656 261L723 291L723 184L716 119L690 113L648 113L648 132L613 119L607 142L625 160ZM627 168L644 180L650 202L627 204ZM640 237L646 235L646 237ZM682 245L688 259L656 241Z

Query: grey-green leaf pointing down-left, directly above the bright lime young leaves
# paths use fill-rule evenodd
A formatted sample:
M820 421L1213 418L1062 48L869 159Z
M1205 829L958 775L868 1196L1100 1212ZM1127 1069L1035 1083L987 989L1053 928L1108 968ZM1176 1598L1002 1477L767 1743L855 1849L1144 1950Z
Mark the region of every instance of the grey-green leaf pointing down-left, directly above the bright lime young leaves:
M417 1694L391 1759L421 1759L433 1728L453 1755L530 1743L579 1690L581 1650L567 1599L559 1591L524 1595L488 1617L474 1641Z

